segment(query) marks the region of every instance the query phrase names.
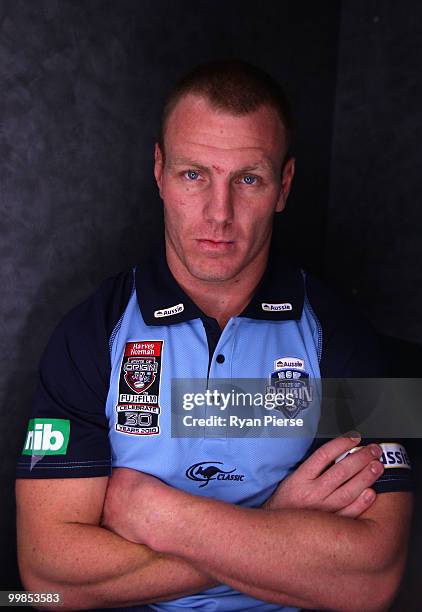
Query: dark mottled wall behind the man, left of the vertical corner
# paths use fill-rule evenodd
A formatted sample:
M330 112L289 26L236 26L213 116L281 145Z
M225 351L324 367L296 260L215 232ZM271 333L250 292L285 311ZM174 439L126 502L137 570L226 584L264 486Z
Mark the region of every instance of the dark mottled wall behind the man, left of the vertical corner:
M0 0L0 567L17 585L13 472L53 327L99 281L154 248L152 145L162 97L218 56L286 84L298 182L279 239L321 265L339 3ZM289 228L295 228L291 231Z

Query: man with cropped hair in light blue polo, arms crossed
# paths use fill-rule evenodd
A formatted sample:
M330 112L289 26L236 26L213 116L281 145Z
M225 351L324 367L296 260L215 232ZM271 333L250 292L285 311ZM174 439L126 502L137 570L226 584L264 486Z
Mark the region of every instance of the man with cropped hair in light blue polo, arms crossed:
M312 454L315 429L171 436L175 378L379 373L364 324L269 261L290 131L278 85L243 62L182 80L155 150L165 253L107 281L50 341L18 545L26 588L62 593L62 609L380 610L394 597L411 494L407 466L383 474L378 445L334 464L358 435Z

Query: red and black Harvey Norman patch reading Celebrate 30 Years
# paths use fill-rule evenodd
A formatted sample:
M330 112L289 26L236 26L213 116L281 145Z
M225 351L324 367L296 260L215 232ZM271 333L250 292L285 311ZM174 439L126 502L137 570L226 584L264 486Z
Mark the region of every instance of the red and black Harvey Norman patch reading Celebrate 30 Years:
M160 433L163 340L127 342L119 376L116 430L137 436Z

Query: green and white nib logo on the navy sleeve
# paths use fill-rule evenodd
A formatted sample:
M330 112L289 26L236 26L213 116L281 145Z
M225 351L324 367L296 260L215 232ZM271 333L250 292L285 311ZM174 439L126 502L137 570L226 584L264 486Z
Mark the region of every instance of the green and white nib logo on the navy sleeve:
M69 444L70 421L31 419L23 455L65 455Z

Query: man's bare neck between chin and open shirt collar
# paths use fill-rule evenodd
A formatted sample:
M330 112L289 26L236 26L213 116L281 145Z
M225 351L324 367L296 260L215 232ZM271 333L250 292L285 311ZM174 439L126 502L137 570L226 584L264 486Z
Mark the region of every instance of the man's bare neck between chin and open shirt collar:
M265 252L258 261L227 281L204 281L193 277L182 262L167 252L167 263L177 283L202 312L224 329L231 317L240 314L252 299L268 260Z

